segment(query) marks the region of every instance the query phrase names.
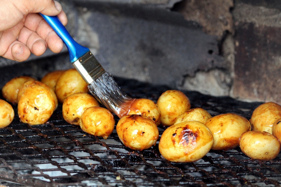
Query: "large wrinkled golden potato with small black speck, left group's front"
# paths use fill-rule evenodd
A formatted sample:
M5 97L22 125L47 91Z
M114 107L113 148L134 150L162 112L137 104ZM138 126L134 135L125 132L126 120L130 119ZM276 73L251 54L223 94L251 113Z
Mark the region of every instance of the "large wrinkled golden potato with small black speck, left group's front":
M29 81L28 81L29 82ZM49 120L56 108L54 91L39 81L25 82L20 88L18 117L23 123L43 124Z

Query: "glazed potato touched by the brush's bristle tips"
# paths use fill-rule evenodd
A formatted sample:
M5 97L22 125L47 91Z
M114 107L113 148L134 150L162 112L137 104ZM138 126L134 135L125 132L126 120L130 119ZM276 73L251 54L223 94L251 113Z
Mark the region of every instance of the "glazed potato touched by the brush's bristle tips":
M128 114L140 114L152 119L156 125L160 125L161 113L156 103L150 99L136 99L131 104Z

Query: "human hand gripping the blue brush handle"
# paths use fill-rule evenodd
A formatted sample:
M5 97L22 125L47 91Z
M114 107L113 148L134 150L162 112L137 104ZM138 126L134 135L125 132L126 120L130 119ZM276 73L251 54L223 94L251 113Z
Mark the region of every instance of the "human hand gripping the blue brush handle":
M67 17L62 7L53 0L0 1L0 56L24 61L30 52L42 55L47 47L54 53L63 48L63 41L38 14L58 15L63 25Z

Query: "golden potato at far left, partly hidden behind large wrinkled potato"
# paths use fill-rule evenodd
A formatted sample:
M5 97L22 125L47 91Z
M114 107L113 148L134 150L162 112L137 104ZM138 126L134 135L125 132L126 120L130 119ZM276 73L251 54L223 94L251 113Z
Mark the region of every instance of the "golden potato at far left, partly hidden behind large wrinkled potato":
M18 103L18 90L23 85L23 83L25 83L26 81L29 81L29 80L36 80L36 79L34 79L32 77L28 77L28 76L20 76L20 77L11 79L2 88L3 97L8 102L17 104Z

